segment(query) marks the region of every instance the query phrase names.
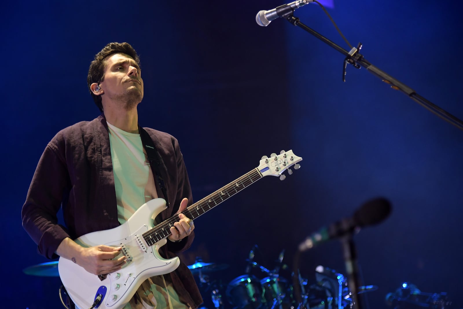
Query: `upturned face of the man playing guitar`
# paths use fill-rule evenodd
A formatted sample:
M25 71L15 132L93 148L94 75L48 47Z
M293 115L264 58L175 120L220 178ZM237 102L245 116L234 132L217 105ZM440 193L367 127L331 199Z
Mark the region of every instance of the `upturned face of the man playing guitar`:
M103 82L104 96L118 101L129 110L143 99L143 79L138 64L126 54L114 54L106 58ZM106 98L105 98L106 96Z

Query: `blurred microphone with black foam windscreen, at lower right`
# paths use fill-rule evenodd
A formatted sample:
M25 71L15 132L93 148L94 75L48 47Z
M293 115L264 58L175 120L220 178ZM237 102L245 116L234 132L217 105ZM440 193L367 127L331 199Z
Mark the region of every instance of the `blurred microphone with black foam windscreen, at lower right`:
M332 240L353 233L361 227L375 225L383 221L391 213L391 204L385 198L376 198L364 203L350 218L322 227L319 231L308 236L299 244L299 251L303 252L313 248L319 243Z

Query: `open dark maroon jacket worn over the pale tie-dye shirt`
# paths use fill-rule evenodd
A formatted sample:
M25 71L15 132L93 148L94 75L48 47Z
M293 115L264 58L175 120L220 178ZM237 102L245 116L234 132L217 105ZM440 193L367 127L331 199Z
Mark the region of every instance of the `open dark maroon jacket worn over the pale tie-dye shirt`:
M177 139L168 133L145 128L164 161L161 174L170 207L161 213L163 221L175 214L183 197L192 204L188 174ZM156 170L153 168L153 175ZM159 197L165 197L155 179ZM57 224L63 207L66 227ZM63 239L119 226L109 133L104 115L82 121L56 134L46 146L32 178L22 208L23 227L38 245L38 253L56 259ZM164 258L188 249L194 232L181 242L167 241L160 249ZM175 290L193 309L202 298L191 271L183 262L170 274Z

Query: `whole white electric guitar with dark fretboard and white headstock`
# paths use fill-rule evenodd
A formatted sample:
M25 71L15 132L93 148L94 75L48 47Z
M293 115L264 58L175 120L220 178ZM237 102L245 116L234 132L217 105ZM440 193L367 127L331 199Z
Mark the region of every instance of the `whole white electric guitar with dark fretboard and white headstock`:
M190 219L195 219L264 176L280 176L283 180L285 175L282 175L282 172L294 164L294 169L298 169L299 164L296 163L301 160L302 158L295 156L291 150L282 151L279 155L273 153L270 158L264 156L257 168L194 203L182 213ZM292 170L288 170L288 173L292 174ZM69 259L59 259L59 276L78 308L88 309L97 301L92 308L121 309L130 301L144 280L167 274L178 267L178 257L163 259L158 252L159 248L166 244L170 227L179 220L177 214L153 227L153 214L157 215L165 208L165 201L156 198L138 208L123 225L88 233L75 240L84 247L120 246L121 254L127 257L127 263L122 269L100 276L89 273Z

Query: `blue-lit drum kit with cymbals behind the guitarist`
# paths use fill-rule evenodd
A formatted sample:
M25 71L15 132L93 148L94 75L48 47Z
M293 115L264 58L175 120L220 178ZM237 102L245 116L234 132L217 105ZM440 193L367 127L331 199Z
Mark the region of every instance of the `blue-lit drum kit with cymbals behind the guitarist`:
M276 260L275 268L270 270L254 261L256 249L257 245L253 246L249 259L246 259L244 274L233 278L228 284L211 280L210 276L227 269L227 264L205 263L196 258L194 264L188 265L191 273L199 279L205 300L203 309L347 309L354 305L342 274L320 265L315 269L316 283L308 284L308 280L298 274L298 289L294 289L292 278L280 275L281 269L288 268L282 263L284 250ZM59 277L58 262L32 265L23 272L34 276ZM258 274L254 275L253 272ZM376 289L375 285L362 286L359 293ZM295 294L296 290L298 295Z

